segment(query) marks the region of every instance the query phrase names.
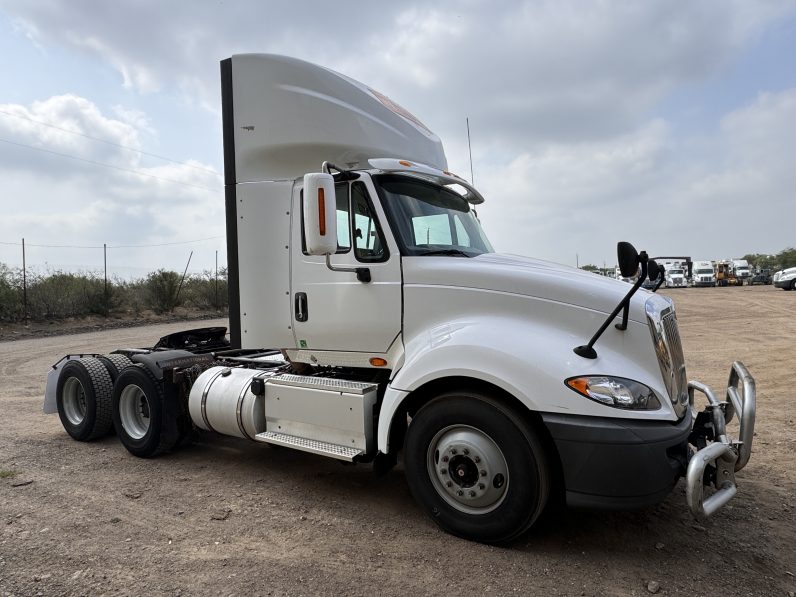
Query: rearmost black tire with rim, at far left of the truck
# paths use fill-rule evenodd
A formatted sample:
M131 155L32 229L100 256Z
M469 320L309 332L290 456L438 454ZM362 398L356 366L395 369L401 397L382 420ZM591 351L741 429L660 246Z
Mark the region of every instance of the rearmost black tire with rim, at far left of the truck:
M104 437L111 430L113 382L105 365L94 357L69 361L56 387L58 416L66 432L80 442Z

